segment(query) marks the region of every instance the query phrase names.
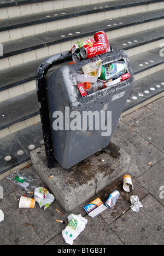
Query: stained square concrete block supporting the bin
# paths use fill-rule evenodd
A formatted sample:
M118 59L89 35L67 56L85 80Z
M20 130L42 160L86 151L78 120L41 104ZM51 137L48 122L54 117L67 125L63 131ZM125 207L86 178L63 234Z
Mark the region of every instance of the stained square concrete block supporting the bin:
M33 150L31 159L39 177L66 212L123 176L130 162L130 156L112 142L69 170L63 169L57 161L55 167L49 169L44 146Z

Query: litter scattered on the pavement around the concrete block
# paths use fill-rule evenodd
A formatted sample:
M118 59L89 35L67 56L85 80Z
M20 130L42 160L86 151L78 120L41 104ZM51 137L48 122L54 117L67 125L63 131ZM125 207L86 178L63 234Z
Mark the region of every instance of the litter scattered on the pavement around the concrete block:
M51 177L52 176L50 176L50 178ZM25 176L21 176L20 174L18 174L14 179L13 176L11 178L9 177L9 179L12 179L15 184L20 185L22 188L24 188L26 190L26 194L34 194L33 198L27 197L26 194L22 195L19 199L19 208L34 208L36 202L38 202L39 207L41 208L44 206L44 210L46 210L55 200L55 196L50 194L46 188L33 186L32 182L34 181L34 179L32 179L31 177L26 178ZM34 192L28 190L33 190L33 188ZM126 192L131 192L133 190L132 178L130 175L125 175L123 177L123 189ZM99 213L103 212L104 210L114 207L119 199L119 196L119 191L114 190L109 195L105 203L103 203L102 200L97 197L88 205L84 206L84 210L90 217L95 218ZM143 207L137 195L132 195L130 197L130 202L131 209L134 212L138 212L139 208ZM56 211L61 215L64 214L57 209ZM68 243L69 245L73 245L73 241L75 240L75 238L77 238L79 234L85 229L87 219L82 217L81 214L75 215L73 213L70 214L67 218L68 225L65 229L62 230L62 236L65 239L66 243ZM3 220L4 213L2 210L0 210L0 222L2 222ZM65 224L64 220L56 219L56 222Z

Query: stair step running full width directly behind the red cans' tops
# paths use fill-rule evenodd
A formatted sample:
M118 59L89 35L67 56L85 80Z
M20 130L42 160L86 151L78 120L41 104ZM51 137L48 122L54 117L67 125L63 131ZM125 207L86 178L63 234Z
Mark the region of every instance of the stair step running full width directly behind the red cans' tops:
M69 51L77 40L93 38L93 34L98 30L106 31L107 37L112 40L123 35L126 36L163 26L163 10L144 13L143 20L141 14L136 14L63 28L55 32L40 33L34 37L3 43L4 56L0 56L0 70L21 64L25 65L27 62L47 58L62 51ZM162 30L161 34L159 31L159 38L161 36L163 36ZM156 37L157 40L159 38Z

